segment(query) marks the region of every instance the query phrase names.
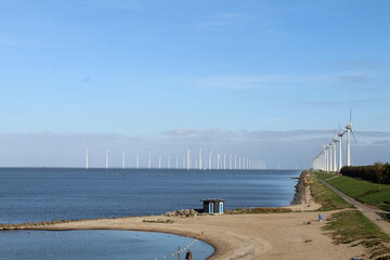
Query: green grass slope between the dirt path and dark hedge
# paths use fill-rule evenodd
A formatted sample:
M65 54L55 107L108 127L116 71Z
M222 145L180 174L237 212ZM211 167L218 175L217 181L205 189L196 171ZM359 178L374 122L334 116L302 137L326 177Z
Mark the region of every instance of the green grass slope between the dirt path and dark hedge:
M390 211L389 184L372 183L350 177L337 177L327 182L359 202L375 205L382 210Z

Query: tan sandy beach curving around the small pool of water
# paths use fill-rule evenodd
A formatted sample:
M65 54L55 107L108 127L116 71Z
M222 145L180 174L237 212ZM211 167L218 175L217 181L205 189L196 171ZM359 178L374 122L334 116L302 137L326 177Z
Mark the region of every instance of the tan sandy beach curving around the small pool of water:
M309 208L309 207L307 207ZM301 210L301 207L298 206ZM336 212L336 211L333 211ZM150 216L82 220L39 227L40 230L132 230L199 237L212 245L209 259L350 259L364 255L362 247L334 245L321 229L332 212L220 214L192 218ZM173 223L143 222L167 221ZM308 222L310 222L308 224ZM202 234L202 235L200 235ZM194 252L195 253L195 252ZM194 258L196 259L196 258Z

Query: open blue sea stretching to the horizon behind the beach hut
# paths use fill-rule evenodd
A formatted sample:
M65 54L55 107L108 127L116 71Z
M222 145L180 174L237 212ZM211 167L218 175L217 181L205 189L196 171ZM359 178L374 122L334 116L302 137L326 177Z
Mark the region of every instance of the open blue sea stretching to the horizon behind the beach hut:
M0 169L0 223L160 214L227 199L225 208L288 205L294 170Z

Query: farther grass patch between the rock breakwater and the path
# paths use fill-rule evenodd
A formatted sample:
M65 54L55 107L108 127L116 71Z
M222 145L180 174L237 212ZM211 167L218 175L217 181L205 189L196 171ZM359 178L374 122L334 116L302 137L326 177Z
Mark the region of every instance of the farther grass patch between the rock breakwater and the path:
M312 184L310 190L314 200L322 205L321 210L343 209L352 206L339 195L332 192L328 187L324 186L314 177L311 178L311 181Z

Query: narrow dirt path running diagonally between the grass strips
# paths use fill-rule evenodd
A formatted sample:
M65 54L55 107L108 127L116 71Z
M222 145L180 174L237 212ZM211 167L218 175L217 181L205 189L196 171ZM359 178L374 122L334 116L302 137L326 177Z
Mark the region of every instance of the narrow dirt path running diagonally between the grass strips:
M326 181L321 180L317 178L318 181L321 181L325 186L330 188L334 193L346 199L348 203L354 205L367 219L373 221L374 224L379 226L386 234L390 235L390 222L386 220L381 220L380 217L377 214L377 212L386 212L380 209L373 209L362 203L359 203L358 200L351 198L350 196L346 195L344 193L340 192L336 187L332 186Z

